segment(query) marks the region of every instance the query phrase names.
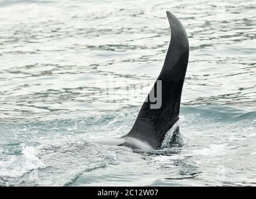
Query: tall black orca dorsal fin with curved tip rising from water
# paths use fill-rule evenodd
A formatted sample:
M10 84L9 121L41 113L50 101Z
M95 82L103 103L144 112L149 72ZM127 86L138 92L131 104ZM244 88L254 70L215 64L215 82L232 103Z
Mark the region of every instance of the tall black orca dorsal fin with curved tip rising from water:
M166 13L170 24L171 40L164 66L157 78L158 81L155 81L147 99L142 104L134 126L124 136L125 139L132 137L145 141L153 149L160 148L166 132L179 119L180 98L189 60L189 40L184 27L174 14L169 11ZM122 145L135 147L127 142Z

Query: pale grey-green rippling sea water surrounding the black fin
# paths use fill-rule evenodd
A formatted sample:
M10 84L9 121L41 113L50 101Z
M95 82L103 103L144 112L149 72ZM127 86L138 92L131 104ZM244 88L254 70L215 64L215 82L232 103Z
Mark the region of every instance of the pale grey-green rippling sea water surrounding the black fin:
M1 0L0 186L255 186L255 6ZM182 146L97 144L132 127L164 63L167 10L190 42Z

